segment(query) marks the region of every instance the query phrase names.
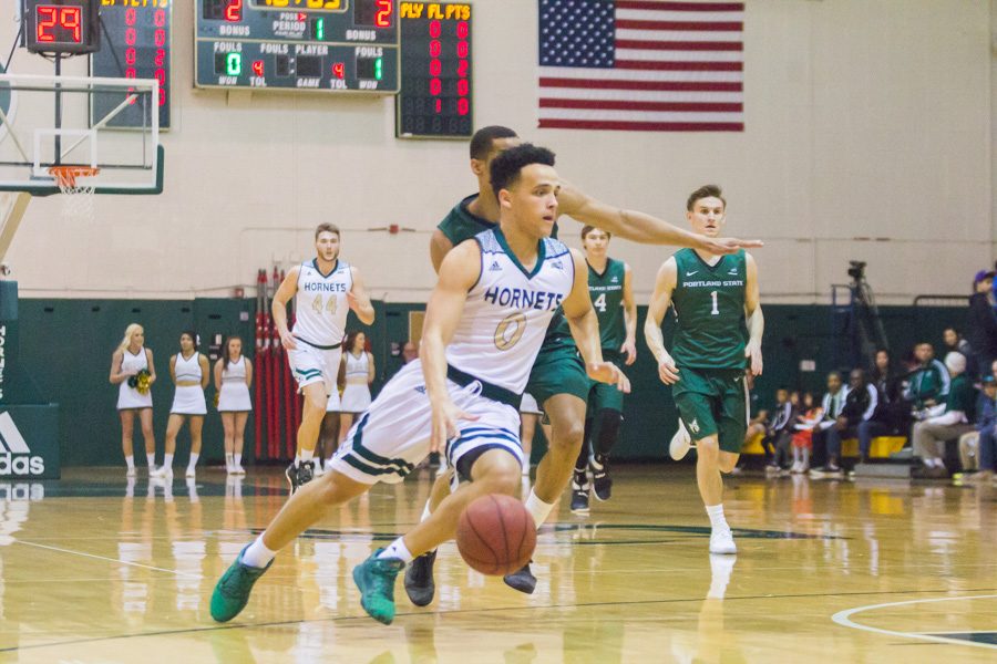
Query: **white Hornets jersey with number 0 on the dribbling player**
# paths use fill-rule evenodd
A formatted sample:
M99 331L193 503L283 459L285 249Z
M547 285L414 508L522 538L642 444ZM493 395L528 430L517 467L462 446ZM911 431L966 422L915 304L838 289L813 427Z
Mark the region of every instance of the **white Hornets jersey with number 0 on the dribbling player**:
M474 239L481 247L481 274L446 346L446 362L521 394L547 325L572 291L575 263L563 242L545 238L536 266L527 272L500 229Z

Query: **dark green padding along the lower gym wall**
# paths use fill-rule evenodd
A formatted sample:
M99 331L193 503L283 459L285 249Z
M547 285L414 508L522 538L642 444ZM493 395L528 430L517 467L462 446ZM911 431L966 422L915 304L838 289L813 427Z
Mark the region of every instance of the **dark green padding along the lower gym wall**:
M392 343L402 344L409 335L409 312L421 304L376 303L378 321L369 330L378 363L376 388L401 366L391 355ZM173 387L168 375L168 357L178 351L183 330L194 329L202 338L202 352L215 333L239 333L246 341L247 355L254 347L254 299L196 300L55 300L21 299L21 357L32 373L42 394L60 404L62 465L119 465L121 426L115 403L117 387L107 376L111 354L124 334L125 326L138 322L145 326L146 343L156 355L160 380L154 387L154 425L162 460ZM881 314L895 354L902 355L916 341L932 341L942 354L942 330L962 325L964 308L884 307ZM825 305L764 305L765 373L758 381L762 403L771 400L779 385L820 392L824 374L834 369L832 330L835 323ZM676 412L670 390L657 378L650 352L643 339L646 308L640 308L638 324L638 360L627 370L633 394L627 397L624 428L615 456L618 459L660 459L675 432ZM245 317L245 321L240 320ZM350 324L356 328L356 322ZM670 323L666 324L666 340ZM815 372L801 373L800 361L813 360ZM847 369L847 367L842 367ZM213 395L209 388L208 398ZM539 443L541 437L537 437ZM177 459L183 463L189 449L186 429L178 439ZM246 427L246 456L253 460L254 426ZM543 447L534 453L538 458ZM142 463L143 445L136 427L136 463ZM207 463L222 458L222 423L217 412L208 408L204 426L204 450Z

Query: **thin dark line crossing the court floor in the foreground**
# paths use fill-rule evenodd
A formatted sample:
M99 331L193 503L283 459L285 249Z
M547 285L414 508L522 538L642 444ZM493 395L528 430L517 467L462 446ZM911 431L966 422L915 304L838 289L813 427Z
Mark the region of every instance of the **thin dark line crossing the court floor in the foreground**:
M984 592L984 591L993 591L993 588L980 588L975 591L970 590L969 592ZM883 594L909 594L909 593L926 593L926 592L949 592L948 590L894 590L887 592L846 592L846 593L800 593L800 594L763 594L763 595L741 595L741 596L728 596L723 601L732 602L732 601L742 601L742 600L784 600L784 599L795 599L795 598L833 598L833 596L847 596L847 595L883 595ZM976 595L976 596L997 596L997 595ZM542 605L527 605L527 606L489 606L487 609L449 609L449 610L436 610L436 611L402 611L395 613L395 618L426 618L426 616L439 616L439 615L450 615L450 614L487 614L487 613L500 613L500 612L515 612L515 611L537 611L537 610L546 610L546 609L567 609L567 608L597 608L597 606L631 606L631 605L646 605L646 604L680 604L683 602L702 602L703 600L700 598L674 598L669 600L638 600L636 602L583 602L578 604L542 604ZM901 602L903 603L903 602ZM115 634L110 636L93 636L90 639L72 639L68 641L56 641L52 643L34 643L31 645L18 645L13 647L0 647L0 653L9 653L9 652L19 652L27 650L43 650L47 647L59 647L63 645L76 645L80 643L95 643L102 641L119 641L124 639L143 639L145 636L175 636L179 634L193 634L201 632L220 632L226 630L256 630L256 629L267 629L267 627L281 627L281 626L290 626L290 625L300 625L300 624L312 624L312 623L345 623L345 622L362 622L371 620L366 613L361 613L359 615L332 615L329 618L319 618L319 619L301 619L301 620L282 620L282 621L273 621L273 622L259 622L259 623L215 623L209 626L204 627L182 627L179 630L158 630L155 632L137 632L133 634ZM967 642L955 641L957 644L966 645Z

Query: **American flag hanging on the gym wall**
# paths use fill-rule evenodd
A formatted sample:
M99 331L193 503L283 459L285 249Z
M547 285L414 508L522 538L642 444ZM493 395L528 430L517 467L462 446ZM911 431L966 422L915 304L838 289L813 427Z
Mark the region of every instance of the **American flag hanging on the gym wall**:
M744 3L538 0L539 126L744 131Z

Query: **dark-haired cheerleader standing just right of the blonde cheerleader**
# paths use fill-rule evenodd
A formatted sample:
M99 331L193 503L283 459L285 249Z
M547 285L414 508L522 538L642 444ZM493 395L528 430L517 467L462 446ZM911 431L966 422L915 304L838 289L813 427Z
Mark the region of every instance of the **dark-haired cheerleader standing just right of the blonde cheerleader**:
M169 373L176 392L173 407L169 408L169 422L166 423L166 456L163 460L163 477L173 477L173 453L176 452L176 435L184 426L184 419L191 423L191 460L187 461L187 477L194 477L194 467L201 456L201 430L207 404L204 401L204 388L207 387L210 366L207 357L197 352L194 332L181 334L181 352L169 359Z

